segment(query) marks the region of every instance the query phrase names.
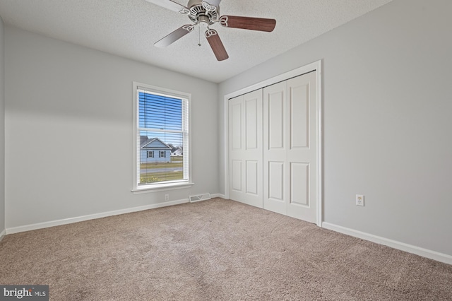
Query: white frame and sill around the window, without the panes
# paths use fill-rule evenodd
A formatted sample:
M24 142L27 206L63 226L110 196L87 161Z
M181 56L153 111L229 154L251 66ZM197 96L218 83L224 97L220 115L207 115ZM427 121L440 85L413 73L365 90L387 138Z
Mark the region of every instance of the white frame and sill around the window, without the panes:
M147 185L139 185L138 180L140 179L139 168L138 168L138 160L140 160L140 138L139 138L139 105L138 105L138 90L147 90L150 93L167 95L174 98L182 98L186 99L189 106L189 131L188 131L188 150L186 154L186 158L189 160L188 173L189 179L177 182L162 182L155 184L147 184ZM185 152L185 150L184 150ZM155 154L154 154L155 155ZM153 85L148 85L145 83L133 82L133 183L131 191L134 194L141 194L145 192L153 192L153 191L165 191L170 189L183 189L189 188L194 183L192 182L191 177L191 94L184 93L177 90L171 90L167 88L160 88Z

